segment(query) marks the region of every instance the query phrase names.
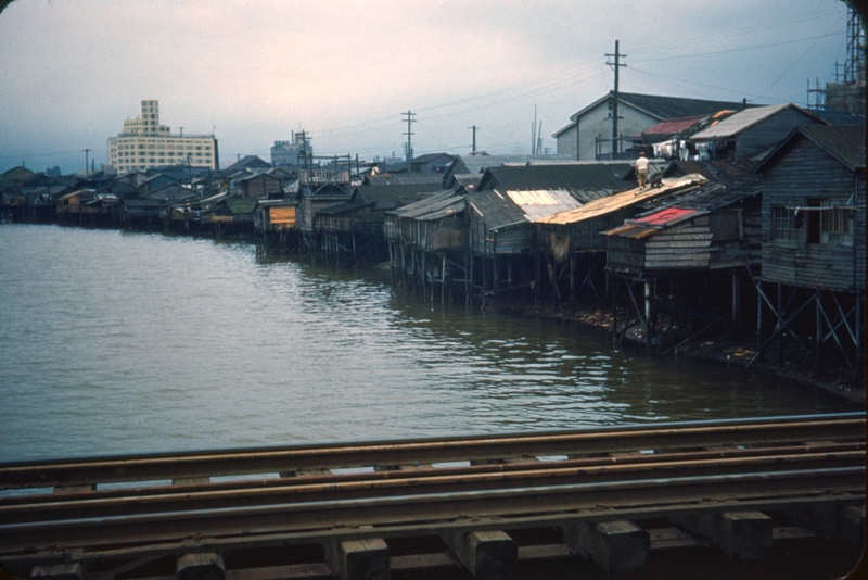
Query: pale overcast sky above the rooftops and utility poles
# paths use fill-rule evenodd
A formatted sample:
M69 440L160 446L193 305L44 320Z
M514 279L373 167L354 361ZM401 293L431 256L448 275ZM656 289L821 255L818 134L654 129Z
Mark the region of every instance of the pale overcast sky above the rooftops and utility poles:
M807 104L846 58L840 0L16 0L0 13L0 171L97 167L142 99L221 165L316 154L527 154L613 88ZM813 102L813 100L812 100Z

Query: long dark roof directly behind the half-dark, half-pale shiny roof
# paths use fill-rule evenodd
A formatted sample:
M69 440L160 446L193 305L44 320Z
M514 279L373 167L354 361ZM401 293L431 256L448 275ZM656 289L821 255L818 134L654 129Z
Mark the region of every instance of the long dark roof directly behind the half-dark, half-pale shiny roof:
M626 189L623 177L633 169L629 162L572 162L557 165L502 165L488 167L476 192L487 189L564 189L583 201Z

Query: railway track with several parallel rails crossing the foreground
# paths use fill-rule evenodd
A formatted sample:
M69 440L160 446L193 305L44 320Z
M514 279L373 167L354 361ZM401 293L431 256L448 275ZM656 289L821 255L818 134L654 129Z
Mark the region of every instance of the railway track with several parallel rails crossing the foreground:
M0 563L832 513L864 506L865 427L840 414L0 464L15 490Z

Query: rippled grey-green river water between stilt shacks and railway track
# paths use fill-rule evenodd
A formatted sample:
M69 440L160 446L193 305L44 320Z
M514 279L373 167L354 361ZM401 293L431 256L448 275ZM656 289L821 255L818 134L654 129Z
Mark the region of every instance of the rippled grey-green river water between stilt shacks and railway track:
M0 226L0 462L855 411L247 243Z

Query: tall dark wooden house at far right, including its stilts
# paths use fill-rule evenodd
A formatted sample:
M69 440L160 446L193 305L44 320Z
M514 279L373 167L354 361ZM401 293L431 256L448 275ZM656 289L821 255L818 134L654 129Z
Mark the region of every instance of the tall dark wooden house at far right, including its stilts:
M865 125L799 127L756 171L764 187L757 291L775 320L764 335L764 308L758 311L757 356L777 339L780 364L782 339L795 339L813 351L806 358L816 362L818 375L825 365L840 364L861 380ZM837 349L830 353L827 344Z

